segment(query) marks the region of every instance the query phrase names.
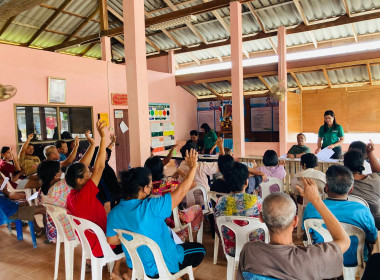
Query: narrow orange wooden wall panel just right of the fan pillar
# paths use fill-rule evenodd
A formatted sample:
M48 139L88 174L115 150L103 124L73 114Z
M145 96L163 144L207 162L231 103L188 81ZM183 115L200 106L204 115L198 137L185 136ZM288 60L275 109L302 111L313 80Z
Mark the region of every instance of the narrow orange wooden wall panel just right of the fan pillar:
M295 142L301 132L301 94L288 92L288 141Z

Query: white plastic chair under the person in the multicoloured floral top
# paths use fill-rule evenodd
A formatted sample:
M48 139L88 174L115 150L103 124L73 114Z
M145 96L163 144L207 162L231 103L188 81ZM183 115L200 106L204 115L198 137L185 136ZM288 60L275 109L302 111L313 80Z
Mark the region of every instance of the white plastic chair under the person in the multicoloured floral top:
M245 226L239 226L233 221L247 221ZM216 224L222 239L223 251L227 258L227 280L235 279L235 271L239 265L240 252L245 243L250 242L249 234L257 229L263 229L265 234L265 243L269 242L269 232L267 226L260 222L259 218L242 217L242 216L220 216L216 218ZM235 233L235 257L226 253L224 239L222 236L222 227L225 226Z

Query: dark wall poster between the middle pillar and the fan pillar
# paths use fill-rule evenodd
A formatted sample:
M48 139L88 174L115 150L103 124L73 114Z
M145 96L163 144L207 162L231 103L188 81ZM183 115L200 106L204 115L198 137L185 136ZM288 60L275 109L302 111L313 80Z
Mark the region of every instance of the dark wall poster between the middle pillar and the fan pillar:
M251 131L278 131L278 102L275 102L270 97L256 97L250 99L250 105Z

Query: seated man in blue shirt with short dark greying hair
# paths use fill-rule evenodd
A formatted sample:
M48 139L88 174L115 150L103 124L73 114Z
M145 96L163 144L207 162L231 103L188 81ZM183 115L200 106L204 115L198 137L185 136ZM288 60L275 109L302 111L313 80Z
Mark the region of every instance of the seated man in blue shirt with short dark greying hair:
M366 237L366 241L374 243L377 238L377 229L374 218L368 207L354 201L348 201L347 196L354 184L354 177L351 171L340 165L330 166L326 172L325 191L328 198L324 200L325 205L334 214L341 223L347 223L361 228ZM321 219L315 207L309 203L306 206L303 215L303 221L306 219ZM302 227L303 227L302 221ZM310 230L315 243L323 242L321 235L314 230ZM358 240L356 237L350 237L351 246L343 255L345 266L356 266L356 252Z

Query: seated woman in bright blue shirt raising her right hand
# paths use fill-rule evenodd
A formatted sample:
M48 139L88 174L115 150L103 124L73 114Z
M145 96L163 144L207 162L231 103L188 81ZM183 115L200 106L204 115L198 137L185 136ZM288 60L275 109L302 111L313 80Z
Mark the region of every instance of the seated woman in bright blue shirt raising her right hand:
M121 174L123 199L108 215L107 240L109 244L120 244L114 229L124 229L151 238L158 244L168 270L176 273L191 265L194 270L202 262L206 253L202 244L186 242L176 244L170 235L165 218L185 197L194 180L197 168L197 153L191 151L186 157L190 171L181 185L171 193L157 198L150 198L152 191L151 173L147 168L137 167ZM148 248L140 248L140 258L146 275L158 278L158 270L152 253ZM127 265L132 267L128 252L125 252Z

